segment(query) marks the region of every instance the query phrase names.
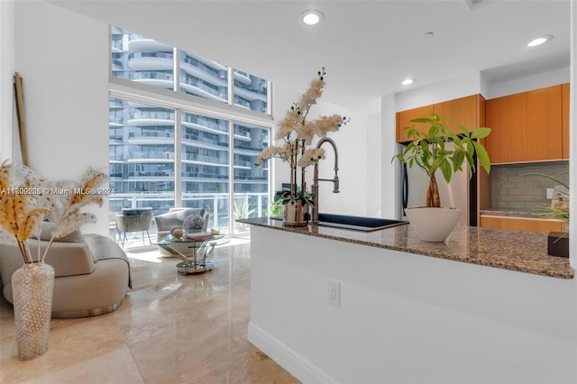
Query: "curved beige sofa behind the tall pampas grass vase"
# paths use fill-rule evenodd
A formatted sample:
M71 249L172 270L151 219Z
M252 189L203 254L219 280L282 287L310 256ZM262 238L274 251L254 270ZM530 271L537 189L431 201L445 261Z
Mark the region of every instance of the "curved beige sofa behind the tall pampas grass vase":
M50 223L42 223L41 251L48 244ZM29 240L32 252L38 241ZM50 246L46 263L54 268L52 317L103 315L117 309L130 284L130 264L124 251L111 238L79 231L57 239ZM23 265L17 245L0 244L0 277L3 293L13 302L11 278Z

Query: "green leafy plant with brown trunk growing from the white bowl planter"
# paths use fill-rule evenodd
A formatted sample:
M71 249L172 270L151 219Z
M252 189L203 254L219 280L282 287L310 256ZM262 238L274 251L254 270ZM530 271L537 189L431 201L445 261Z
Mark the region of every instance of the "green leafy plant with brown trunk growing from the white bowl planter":
M408 168L417 166L425 171L429 177L429 186L426 190L425 206L440 207L441 198L439 188L435 178L435 171L441 170L444 180L449 183L453 172L461 171L463 162L466 161L470 169L470 175L475 171L474 154L481 164L481 167L490 172L489 154L478 142L490 134L490 128L477 128L471 133L463 125L459 125L461 132L459 135L449 131L445 126L447 118L439 114L432 113L431 117L423 117L411 120L412 123L429 124L428 132L423 133L415 126L405 128L411 142L405 150L394 156L402 163L406 163ZM452 145L449 145L451 143Z

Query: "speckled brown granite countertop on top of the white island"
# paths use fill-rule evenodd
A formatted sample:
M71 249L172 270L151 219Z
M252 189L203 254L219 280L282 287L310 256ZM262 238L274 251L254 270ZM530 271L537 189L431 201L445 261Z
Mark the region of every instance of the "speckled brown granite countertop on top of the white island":
M284 226L282 221L257 217L237 220L290 233L405 251L440 259L462 261L503 270L516 270L558 279L572 279L568 258L547 254L547 234L505 231L458 225L444 242L423 242L409 224L362 232L321 225Z

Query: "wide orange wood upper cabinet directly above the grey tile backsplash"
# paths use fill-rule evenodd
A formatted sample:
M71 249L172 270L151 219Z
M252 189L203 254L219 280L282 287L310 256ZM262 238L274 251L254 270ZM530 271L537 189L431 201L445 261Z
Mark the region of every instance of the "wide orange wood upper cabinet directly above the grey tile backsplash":
M491 163L568 159L568 151L563 157L562 105L562 85L487 100Z

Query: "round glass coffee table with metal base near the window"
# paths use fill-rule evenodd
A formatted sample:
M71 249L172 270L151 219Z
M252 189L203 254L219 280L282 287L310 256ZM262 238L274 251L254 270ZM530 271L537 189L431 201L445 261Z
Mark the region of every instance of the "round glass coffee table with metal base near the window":
M203 273L212 270L215 261L210 255L215 250L215 246L230 242L224 234L206 235L195 234L194 236L183 236L181 238L169 235L157 244L176 255L182 262L177 264L177 270L183 275L189 273Z

